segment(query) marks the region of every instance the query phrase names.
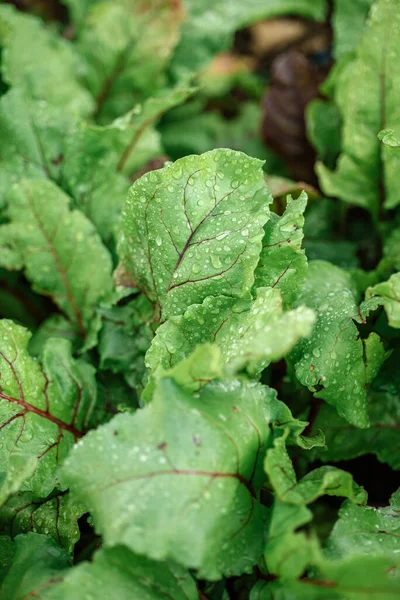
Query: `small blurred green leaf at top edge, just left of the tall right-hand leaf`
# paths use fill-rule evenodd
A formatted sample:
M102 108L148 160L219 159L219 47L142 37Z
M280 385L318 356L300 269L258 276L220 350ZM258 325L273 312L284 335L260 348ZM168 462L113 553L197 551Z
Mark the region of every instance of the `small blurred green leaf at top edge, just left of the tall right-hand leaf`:
M357 48L372 2L373 0L335 0L332 25L336 60Z

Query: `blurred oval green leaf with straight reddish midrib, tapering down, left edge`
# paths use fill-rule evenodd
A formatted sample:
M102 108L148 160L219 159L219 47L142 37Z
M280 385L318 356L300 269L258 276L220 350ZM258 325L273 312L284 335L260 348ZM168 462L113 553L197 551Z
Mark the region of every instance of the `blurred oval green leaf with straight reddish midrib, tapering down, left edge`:
M111 293L111 258L69 200L50 181L23 180L9 194L11 223L0 232L16 256L11 266L24 266L34 290L50 296L84 337L96 305Z

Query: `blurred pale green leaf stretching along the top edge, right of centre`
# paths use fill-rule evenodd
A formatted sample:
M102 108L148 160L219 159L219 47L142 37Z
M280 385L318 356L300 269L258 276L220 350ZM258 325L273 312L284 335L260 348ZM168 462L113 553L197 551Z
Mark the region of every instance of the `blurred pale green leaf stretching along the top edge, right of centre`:
M171 69L175 74L197 71L232 43L236 30L280 15L324 18L325 0L186 0L187 18Z

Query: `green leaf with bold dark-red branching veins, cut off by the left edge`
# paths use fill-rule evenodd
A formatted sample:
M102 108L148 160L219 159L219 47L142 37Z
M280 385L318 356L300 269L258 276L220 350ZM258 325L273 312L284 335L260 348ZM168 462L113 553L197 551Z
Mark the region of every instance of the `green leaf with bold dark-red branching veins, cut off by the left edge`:
M21 489L46 497L59 463L82 437L96 403L94 369L71 357L66 340L50 340L39 364L27 351L30 333L0 321L0 504Z

